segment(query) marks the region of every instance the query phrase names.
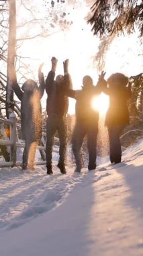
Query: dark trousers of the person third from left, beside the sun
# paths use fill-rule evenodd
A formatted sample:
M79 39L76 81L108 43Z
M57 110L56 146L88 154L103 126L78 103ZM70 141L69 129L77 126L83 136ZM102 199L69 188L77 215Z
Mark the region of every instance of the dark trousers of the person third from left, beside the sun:
M89 170L96 168L96 158L97 158L97 132L98 126L96 123L82 123L77 122L75 129L73 131L73 154L75 156L75 162L77 165L77 170L81 170L81 146L83 139L87 134L87 148L89 151Z

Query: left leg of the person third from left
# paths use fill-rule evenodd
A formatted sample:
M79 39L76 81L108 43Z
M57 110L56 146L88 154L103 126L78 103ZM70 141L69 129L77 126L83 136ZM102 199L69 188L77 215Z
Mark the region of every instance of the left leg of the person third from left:
M73 154L75 156L75 162L76 162L76 172L81 172L82 164L81 164L81 146L83 143L83 138L85 137L85 129L83 129L82 125L79 123L76 123L75 129L73 131L73 138L72 138L72 144L73 144Z

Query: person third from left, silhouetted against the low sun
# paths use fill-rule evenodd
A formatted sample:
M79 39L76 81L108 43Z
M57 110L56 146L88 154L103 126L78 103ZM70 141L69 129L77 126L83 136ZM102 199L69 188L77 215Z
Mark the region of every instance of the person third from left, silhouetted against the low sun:
M85 135L87 135L89 151L88 169L96 168L99 113L92 108L91 102L93 97L99 96L101 90L100 77L97 86L93 86L93 79L89 75L85 75L82 90L68 90L67 92L69 97L77 100L75 106L76 123L72 138L73 154L76 162L75 172L81 172L81 146Z

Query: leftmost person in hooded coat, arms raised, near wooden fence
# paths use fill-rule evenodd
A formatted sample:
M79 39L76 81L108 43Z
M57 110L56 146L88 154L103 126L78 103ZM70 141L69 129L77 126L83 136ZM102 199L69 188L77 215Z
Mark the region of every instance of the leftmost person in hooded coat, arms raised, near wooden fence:
M44 75L38 70L40 86L32 79L26 80L20 88L17 82L13 84L13 90L21 101L21 132L26 146L23 150L22 169L34 170L34 158L36 147L42 137L42 108L40 99L44 94Z

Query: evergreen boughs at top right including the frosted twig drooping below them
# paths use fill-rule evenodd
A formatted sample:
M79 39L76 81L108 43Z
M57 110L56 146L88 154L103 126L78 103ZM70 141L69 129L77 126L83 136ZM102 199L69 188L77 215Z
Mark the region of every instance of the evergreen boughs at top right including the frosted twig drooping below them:
M100 37L99 51L93 57L99 71L104 69L105 55L111 42L121 34L136 32L142 44L143 2L138 0L95 0L88 15L94 35Z

